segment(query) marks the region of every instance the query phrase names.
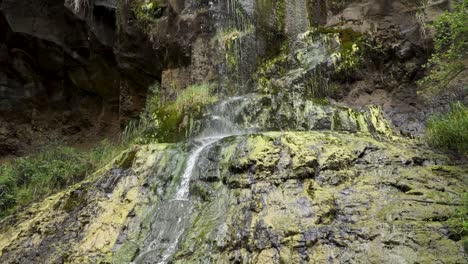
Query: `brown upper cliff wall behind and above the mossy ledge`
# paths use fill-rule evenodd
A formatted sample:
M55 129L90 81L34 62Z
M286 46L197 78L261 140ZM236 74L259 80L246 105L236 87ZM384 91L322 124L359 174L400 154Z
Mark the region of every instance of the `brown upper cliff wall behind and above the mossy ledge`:
M259 62L311 25L352 29L382 45L337 84L337 100L383 105L398 129L423 131L430 109L414 81L430 50L424 25L450 1L159 2L150 12L138 1L3 1L0 155L115 135L155 82L168 97L233 73L237 86L247 83ZM227 34L236 30L251 33L239 42Z

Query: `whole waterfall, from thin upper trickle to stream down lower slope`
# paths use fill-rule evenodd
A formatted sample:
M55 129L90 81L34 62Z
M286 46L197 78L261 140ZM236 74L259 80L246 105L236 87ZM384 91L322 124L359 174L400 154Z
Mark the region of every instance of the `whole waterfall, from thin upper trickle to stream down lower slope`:
M233 56L232 59L235 62L235 65L228 65L228 68L231 68L228 69L226 75L235 80L234 85L240 86L241 71L239 67L244 65L241 39L247 31L251 31L252 25L238 0L228 0L226 9L227 24L218 30L238 33L237 37L229 40L232 43L225 51L226 56ZM228 62L226 63L228 64ZM239 88L238 90L240 91ZM215 105L209 114L201 120L200 127L195 131L197 136L191 142L193 148L186 159L177 191L169 195L165 201L159 202L154 208L154 215L151 216L151 230L142 247L143 253L136 257L133 263L167 263L177 251L193 210L189 195L190 182L195 173L203 173L198 168L200 157L210 147L226 137L253 131L253 129L242 125L243 110L248 102L249 96L228 98Z

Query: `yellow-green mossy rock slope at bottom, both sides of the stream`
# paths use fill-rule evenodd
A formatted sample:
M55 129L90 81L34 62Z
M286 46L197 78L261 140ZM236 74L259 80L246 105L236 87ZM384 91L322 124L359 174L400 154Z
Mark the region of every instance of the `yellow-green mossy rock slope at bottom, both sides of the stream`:
M181 144L130 149L113 167L6 219L1 262L135 260L158 225L177 221L168 202L185 156ZM171 261L465 263L449 219L466 173L401 138L331 131L226 138L195 167L193 209Z

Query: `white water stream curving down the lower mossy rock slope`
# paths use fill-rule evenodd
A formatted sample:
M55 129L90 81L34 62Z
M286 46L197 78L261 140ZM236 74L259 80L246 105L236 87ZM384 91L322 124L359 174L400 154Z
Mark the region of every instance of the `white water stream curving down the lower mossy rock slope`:
M229 98L215 105L202 120L201 132L190 144L193 147L186 159L177 191L155 208L151 232L142 247L142 253L133 263L167 263L176 252L193 210L189 195L190 181L196 172L203 173L197 167L200 157L226 137L253 131L238 124L247 102L247 96Z

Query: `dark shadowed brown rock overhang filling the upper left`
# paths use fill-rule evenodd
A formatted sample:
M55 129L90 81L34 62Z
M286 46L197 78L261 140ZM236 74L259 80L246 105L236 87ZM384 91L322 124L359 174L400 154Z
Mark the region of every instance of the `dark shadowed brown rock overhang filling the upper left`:
M120 2L2 1L0 156L112 136L138 116L163 70L190 62L187 35L200 34L200 16L164 13L151 41Z

